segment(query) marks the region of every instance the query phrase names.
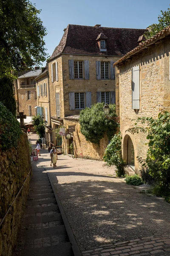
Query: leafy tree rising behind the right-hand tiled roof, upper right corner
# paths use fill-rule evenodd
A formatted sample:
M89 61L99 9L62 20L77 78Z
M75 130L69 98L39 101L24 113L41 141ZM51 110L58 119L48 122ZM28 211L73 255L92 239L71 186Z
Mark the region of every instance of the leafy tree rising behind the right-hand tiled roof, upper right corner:
M144 36L148 39L156 35L159 31L170 26L170 8L167 11L161 11L161 15L158 16L159 23L153 23L148 27L148 31L144 33Z

